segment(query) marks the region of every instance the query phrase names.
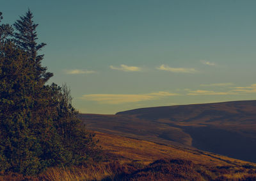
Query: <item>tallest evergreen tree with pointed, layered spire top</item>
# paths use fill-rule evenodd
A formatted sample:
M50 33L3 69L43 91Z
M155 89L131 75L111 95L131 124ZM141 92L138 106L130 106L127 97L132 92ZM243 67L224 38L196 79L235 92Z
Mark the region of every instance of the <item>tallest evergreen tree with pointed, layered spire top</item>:
M13 33L13 42L16 43L17 47L22 49L28 54L28 61L33 66L33 74L35 77L33 86L32 98L34 100L32 111L33 130L37 139L40 140L42 145L41 155L42 164L45 166L52 166L63 162L63 158L60 156L61 145L60 138L56 135L52 119L52 110L54 105L52 103L52 92L49 86L45 83L52 77L52 73L46 72L47 68L42 67L41 61L44 55L39 54L39 51L46 45L45 43L37 43L36 40L36 28L38 24L33 22L33 14L28 10L25 16L21 16L20 20L17 20L13 24L15 33ZM44 116L42 116L44 115ZM56 153L56 152L59 153Z

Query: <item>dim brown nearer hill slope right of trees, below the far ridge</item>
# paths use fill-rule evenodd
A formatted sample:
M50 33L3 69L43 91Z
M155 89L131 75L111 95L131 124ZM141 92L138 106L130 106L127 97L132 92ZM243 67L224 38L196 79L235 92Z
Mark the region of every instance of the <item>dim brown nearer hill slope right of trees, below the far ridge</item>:
M182 129L151 122L130 115L79 114L81 120L90 130L116 134L128 138L143 139L165 145L191 147L192 139ZM161 137L161 133L168 132L170 139ZM192 148L192 147L191 147Z

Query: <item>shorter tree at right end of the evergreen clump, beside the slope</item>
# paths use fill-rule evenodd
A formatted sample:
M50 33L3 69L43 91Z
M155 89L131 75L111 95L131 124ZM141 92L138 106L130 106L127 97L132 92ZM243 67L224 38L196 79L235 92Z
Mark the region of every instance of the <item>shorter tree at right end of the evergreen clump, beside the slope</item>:
M88 132L77 118L78 112L72 106L70 88L66 84L63 84L58 94L56 110L54 123L68 155L68 164L83 164L88 160L100 159L100 147L97 141L93 141L95 134Z

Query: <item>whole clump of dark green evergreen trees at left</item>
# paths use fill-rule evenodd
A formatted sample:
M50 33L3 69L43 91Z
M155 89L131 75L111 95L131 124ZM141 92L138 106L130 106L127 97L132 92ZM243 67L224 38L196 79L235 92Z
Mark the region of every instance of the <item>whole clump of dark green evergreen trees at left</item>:
M20 17L15 33L0 26L0 171L25 175L84 164L100 151L76 118L67 86L45 84L52 74L41 65L45 43L36 43L32 18L30 11Z

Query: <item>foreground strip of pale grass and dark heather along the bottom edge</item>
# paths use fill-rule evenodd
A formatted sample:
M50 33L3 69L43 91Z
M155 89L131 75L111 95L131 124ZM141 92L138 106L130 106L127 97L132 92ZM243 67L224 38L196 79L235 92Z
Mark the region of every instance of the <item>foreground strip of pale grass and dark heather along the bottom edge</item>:
M239 171L239 172L237 172ZM207 167L184 159L141 162L105 162L96 166L50 168L37 177L5 175L0 180L256 180L256 169Z

